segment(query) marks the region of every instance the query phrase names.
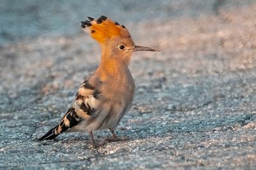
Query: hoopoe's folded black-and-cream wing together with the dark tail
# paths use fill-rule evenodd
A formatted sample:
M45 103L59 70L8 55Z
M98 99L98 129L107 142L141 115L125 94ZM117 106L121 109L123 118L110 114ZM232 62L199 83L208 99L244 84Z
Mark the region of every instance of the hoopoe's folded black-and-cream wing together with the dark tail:
M90 120L100 112L104 99L100 95L100 90L96 89L97 83L89 83L85 80L80 86L74 103L61 118L60 124L53 127L39 140L54 139L64 131L76 126L81 120Z

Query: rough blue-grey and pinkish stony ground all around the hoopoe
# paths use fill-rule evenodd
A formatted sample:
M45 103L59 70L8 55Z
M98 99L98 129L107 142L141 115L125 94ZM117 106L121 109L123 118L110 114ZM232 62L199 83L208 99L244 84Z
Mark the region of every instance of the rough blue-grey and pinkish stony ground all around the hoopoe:
M1 16L11 8L4 2ZM33 2L25 2L12 8L26 12L24 6ZM97 149L88 134L78 132L37 141L97 68L99 47L76 23L91 14L82 15L85 7L76 1L70 6L77 10L67 10L72 17L56 17L58 29L52 25L56 18L40 15L44 4L34 5L48 25L33 27L30 38L25 24L8 32L11 22L3 25L7 19L1 19L0 168L256 168L256 2L149 1L145 8L142 2L130 1L130 8L116 4L112 16L106 3L98 6L124 24L138 45L162 51L134 53L130 68L136 95L116 131L122 141L108 143L111 134L99 131ZM67 2L56 4L45 13L67 8ZM121 13L119 8L129 10ZM92 17L101 14L94 11ZM70 20L67 29L65 18Z

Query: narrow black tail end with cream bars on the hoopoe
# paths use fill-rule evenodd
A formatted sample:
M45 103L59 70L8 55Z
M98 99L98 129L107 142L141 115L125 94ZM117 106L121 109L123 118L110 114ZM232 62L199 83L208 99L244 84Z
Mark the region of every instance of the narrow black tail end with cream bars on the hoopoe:
M62 132L65 132L67 129L77 125L80 121L81 118L77 116L75 109L70 108L61 119L60 124L48 131L44 136L42 136L42 138L39 139L39 141L54 139Z

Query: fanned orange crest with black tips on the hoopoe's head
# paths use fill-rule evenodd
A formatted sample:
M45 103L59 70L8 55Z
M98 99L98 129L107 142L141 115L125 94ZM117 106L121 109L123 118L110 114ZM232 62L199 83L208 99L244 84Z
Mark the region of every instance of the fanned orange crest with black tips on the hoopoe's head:
M113 37L129 37L130 33L124 25L119 25L117 22L109 20L107 17L101 15L97 20L92 17L88 17L90 20L81 22L81 27L85 32L98 41L99 43L105 43L106 40Z

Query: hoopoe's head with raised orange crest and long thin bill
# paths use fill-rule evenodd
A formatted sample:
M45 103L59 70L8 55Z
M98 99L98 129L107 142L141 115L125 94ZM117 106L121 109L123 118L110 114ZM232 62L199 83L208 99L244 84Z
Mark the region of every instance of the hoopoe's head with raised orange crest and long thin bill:
M81 22L81 27L100 44L103 55L129 60L132 52L159 51L154 48L135 45L124 25L113 22L105 16L101 16L97 20L92 17L88 17L88 19Z

